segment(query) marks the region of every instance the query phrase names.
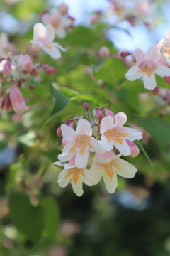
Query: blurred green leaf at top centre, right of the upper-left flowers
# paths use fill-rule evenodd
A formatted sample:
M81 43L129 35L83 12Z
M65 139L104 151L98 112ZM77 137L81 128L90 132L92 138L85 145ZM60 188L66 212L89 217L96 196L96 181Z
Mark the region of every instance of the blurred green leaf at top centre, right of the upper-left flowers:
M91 48L94 43L98 41L98 37L93 33L91 28L77 26L72 33L68 33L64 39L64 43L70 46L79 46L84 48Z

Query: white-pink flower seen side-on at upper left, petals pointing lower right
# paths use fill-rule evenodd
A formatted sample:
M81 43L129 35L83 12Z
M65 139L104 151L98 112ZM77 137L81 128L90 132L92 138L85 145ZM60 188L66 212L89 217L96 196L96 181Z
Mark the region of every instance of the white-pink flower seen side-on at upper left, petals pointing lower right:
M55 38L55 29L52 25L47 25L46 28L42 23L37 23L33 26L33 40L31 50L37 52L40 50L45 50L52 58L57 59L61 57L60 48L63 51L66 51L62 46L58 45L55 42L52 42Z

